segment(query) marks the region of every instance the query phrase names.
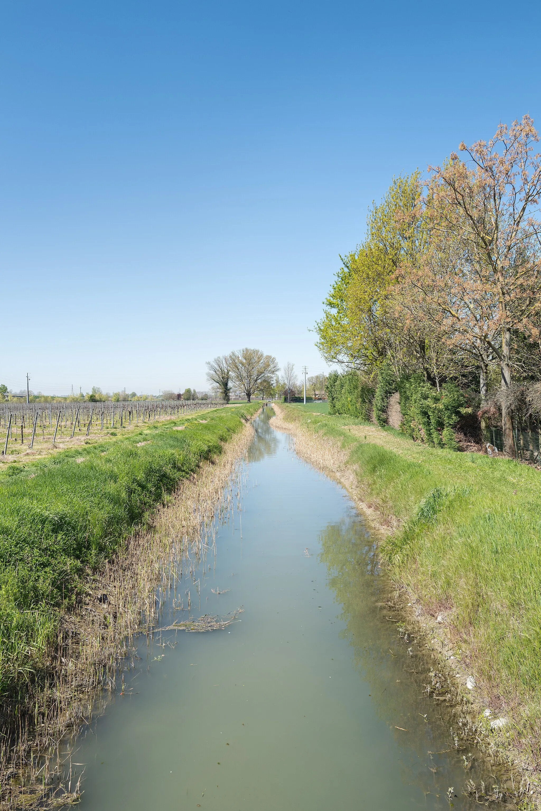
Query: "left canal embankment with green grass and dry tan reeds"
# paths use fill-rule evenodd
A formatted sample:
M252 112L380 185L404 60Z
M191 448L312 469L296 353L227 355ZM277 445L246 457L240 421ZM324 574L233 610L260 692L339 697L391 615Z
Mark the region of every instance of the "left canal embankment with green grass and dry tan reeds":
M131 638L159 614L157 584L178 577L187 550L212 546L259 409L150 423L2 470L2 799L16 805L28 781L15 775L114 686Z

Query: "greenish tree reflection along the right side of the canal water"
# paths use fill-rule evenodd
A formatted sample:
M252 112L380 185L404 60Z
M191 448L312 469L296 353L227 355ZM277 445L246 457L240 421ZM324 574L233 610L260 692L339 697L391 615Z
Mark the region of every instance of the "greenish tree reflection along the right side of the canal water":
M491 765L470 743L461 740L458 710L427 695L436 660L422 638L418 642L414 634L406 641L406 631L400 636L400 616L389 605L395 590L380 571L376 544L363 518L351 508L348 517L327 526L320 543L328 586L342 607L340 618L346 627L341 636L349 640L355 666L371 686L371 701L378 716L402 749L401 779L419 785L425 793L443 797L453 785L449 767L454 769L458 789L456 768L460 762L464 766L463 784L468 779L475 783L484 779L492 787L496 780ZM456 791L458 795L461 792L462 787ZM474 800L471 803L473 808ZM461 797L460 807L469 808L470 800Z

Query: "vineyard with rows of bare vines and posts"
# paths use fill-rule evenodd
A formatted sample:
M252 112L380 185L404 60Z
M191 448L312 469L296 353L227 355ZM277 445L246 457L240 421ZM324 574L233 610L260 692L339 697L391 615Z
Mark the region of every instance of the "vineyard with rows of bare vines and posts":
M2 457L43 452L71 440L222 408L220 400L6 403L0 406ZM114 436L114 433L113 433Z

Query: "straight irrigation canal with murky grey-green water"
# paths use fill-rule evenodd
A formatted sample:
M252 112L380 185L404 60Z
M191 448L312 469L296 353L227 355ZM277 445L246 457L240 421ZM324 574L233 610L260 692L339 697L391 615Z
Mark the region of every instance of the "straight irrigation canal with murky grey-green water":
M389 622L363 517L270 415L255 422L242 539L238 515L218 530L200 607L185 584L192 616L243 606L240 621L140 640L125 693L76 746L82 808L473 809L466 780L495 781L456 748L425 654Z

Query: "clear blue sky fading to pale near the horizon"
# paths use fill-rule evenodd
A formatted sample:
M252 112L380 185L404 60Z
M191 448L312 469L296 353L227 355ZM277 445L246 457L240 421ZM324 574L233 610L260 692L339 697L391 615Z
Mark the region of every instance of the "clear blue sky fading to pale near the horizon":
M246 345L322 371L308 328L393 174L541 126L540 12L0 2L0 382L206 388Z

